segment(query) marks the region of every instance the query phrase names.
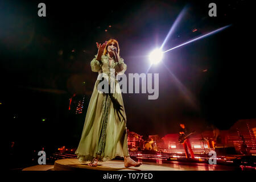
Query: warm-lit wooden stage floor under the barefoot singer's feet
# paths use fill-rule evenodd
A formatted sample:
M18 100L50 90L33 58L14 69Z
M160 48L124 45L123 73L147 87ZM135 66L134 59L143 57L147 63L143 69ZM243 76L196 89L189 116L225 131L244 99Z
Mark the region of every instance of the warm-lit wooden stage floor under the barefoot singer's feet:
M101 170L101 171L234 171L237 167L224 165L210 165L206 163L155 163L142 162L140 167L125 168L122 160L109 160L99 162L97 167L88 166L89 162L81 163L78 159L56 160L54 165L37 165L24 168L23 171L75 171L75 170Z

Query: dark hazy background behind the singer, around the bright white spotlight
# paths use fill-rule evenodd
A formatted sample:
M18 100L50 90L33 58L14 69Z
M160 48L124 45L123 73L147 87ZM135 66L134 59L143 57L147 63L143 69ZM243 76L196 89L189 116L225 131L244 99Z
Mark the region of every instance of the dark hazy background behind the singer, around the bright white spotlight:
M46 17L38 16L40 2ZM214 1L217 17L209 17L210 2L2 1L0 119L6 140L30 151L77 147L86 107L82 114L69 111L69 98L85 95L88 105L97 78L90 69L96 42L117 39L126 75L145 73L148 53L161 46L185 6L163 50L232 26L166 52L149 70L159 73L158 100L123 94L127 129L163 137L176 133L180 122L197 131L210 125L225 130L238 119L255 118L253 6Z

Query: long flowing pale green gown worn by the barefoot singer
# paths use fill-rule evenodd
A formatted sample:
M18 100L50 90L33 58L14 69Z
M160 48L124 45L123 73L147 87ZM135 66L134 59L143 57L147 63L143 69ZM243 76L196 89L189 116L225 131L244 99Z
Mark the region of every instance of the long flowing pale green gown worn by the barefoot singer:
M99 75L90 98L79 146L75 152L80 162L92 160L96 155L100 156L100 161L111 160L115 156L129 156L126 114L118 80L114 78L115 92L112 97L97 90L97 85L101 81L100 73L105 73L110 79L110 70L117 71L117 64L122 68L121 71L118 70L118 75L126 71L127 65L121 57L119 62L112 61L111 64L108 55L101 56L102 63L96 57L97 55L90 62L90 66L92 71L98 72Z

